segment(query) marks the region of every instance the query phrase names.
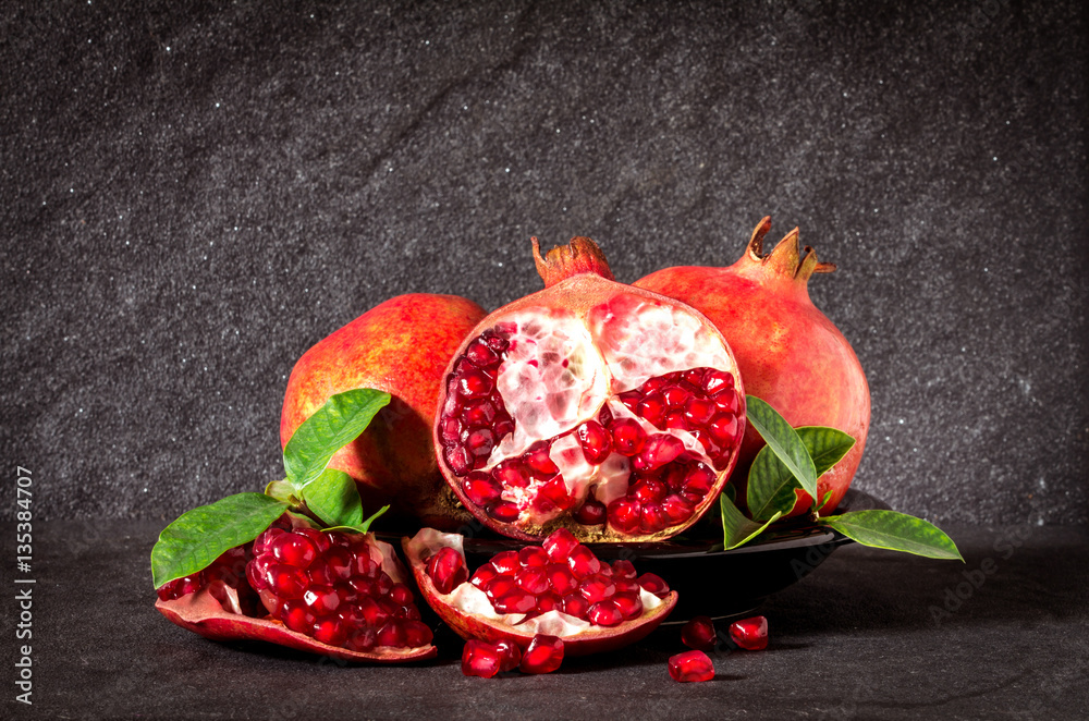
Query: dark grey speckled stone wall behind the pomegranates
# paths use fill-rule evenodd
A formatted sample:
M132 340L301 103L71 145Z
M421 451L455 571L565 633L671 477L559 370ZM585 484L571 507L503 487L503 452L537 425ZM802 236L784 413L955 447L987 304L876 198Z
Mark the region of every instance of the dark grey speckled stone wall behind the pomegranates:
M840 266L857 487L1085 523L1077 5L5 2L0 457L38 518L169 521L278 476L294 361L384 298L537 290L530 235L725 265L770 213Z

